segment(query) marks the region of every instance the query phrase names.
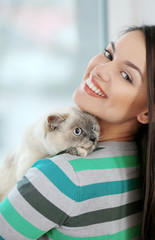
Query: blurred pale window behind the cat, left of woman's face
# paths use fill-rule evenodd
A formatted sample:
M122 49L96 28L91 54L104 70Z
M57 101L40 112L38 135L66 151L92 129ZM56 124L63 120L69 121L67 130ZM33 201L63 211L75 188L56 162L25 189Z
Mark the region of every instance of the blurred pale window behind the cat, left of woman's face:
M104 48L102 0L0 1L0 159L45 112L73 105Z

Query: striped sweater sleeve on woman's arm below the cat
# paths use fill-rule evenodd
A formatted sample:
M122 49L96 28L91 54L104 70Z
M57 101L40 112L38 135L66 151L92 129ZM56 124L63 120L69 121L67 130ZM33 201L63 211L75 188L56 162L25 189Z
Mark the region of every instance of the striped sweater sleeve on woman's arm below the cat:
M38 239L63 225L76 207L76 181L59 156L37 161L0 204L0 240Z

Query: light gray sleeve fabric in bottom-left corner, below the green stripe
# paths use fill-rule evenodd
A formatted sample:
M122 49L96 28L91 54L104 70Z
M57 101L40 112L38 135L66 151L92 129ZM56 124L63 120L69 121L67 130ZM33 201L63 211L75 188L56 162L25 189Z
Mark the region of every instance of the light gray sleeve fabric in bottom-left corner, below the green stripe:
M18 233L13 227L11 227L8 222L3 218L0 213L0 235L5 240L30 240L27 237L24 237L20 233Z

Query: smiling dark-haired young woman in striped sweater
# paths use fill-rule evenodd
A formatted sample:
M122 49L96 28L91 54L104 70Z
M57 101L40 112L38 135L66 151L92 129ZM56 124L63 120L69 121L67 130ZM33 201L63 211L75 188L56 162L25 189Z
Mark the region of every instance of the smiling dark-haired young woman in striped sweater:
M154 43L154 26L130 28L89 62L74 100L98 149L37 161L0 204L0 239L154 239Z

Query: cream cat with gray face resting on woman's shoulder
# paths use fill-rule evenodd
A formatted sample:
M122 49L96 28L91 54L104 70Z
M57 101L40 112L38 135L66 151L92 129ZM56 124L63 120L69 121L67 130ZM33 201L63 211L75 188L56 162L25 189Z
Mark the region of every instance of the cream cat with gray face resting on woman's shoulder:
M26 129L17 148L0 164L0 202L35 161L61 152L84 157L95 149L99 132L96 117L78 107L43 116Z

